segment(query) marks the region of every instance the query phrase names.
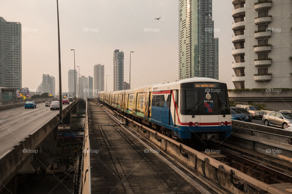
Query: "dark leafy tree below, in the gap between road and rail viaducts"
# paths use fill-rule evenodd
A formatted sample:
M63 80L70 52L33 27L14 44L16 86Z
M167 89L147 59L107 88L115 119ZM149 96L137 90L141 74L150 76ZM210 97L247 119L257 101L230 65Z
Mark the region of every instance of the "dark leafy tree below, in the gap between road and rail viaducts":
M65 166L65 172L67 172L68 168L70 166L73 166L76 162L75 160L75 150L79 150L80 148L78 146L72 146L72 147L64 147L61 146L61 151L58 151L56 155L59 157L54 160L56 164L59 164L60 166Z

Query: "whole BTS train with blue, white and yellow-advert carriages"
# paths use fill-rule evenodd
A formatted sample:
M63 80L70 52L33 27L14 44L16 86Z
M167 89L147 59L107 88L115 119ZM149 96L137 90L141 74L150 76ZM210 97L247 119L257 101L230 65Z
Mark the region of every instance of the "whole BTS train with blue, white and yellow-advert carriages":
M232 131L227 86L217 79L197 77L99 92L98 99L174 139L213 140Z

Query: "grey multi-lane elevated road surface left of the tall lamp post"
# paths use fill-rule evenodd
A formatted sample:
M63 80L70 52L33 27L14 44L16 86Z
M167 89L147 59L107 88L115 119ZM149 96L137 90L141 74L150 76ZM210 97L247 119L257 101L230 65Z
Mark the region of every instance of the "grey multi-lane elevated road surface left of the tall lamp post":
M63 109L67 106L63 105ZM0 111L0 157L57 114L59 109L50 110L44 102L37 103L34 109L21 106Z

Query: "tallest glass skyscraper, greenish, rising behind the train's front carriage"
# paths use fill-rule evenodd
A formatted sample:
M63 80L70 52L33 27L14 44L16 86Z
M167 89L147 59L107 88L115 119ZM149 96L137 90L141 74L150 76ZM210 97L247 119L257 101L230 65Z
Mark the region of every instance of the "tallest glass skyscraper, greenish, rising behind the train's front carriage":
M179 0L179 79L216 79L212 0Z

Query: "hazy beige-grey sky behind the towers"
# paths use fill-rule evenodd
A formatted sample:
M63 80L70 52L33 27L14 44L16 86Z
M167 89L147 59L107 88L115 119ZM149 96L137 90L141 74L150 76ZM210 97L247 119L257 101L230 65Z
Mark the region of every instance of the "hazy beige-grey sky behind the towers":
M213 0L213 20L219 29L214 33L214 37L219 37L219 79L227 82L228 88L234 88L231 9L231 2ZM0 13L6 21L22 24L22 86L36 89L42 74L50 74L56 79L57 93L56 1L0 0ZM68 91L68 69L74 69L70 49L75 49L81 75L93 76L95 64L105 65L108 90L113 89L115 49L124 52L126 82L129 53L134 51L131 88L178 79L178 0L59 0L59 17L62 92ZM162 18L154 19L158 17ZM145 32L144 28L153 32Z

